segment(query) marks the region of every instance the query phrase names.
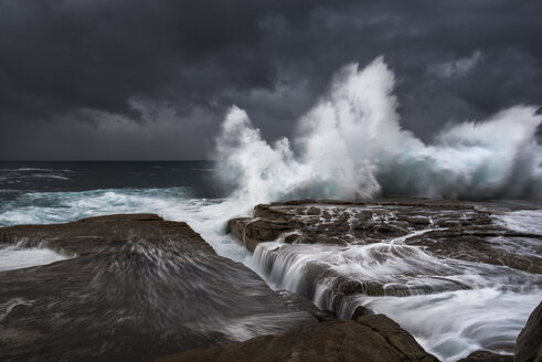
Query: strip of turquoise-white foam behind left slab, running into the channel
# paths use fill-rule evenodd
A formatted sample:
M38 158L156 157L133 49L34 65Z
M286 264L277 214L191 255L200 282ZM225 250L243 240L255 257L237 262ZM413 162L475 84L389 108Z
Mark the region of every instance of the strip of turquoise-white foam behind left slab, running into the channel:
M187 222L220 255L242 260L247 252L226 234L231 217L251 206L233 199L192 199L184 188L35 192L0 205L0 225L47 224L116 213L156 213Z

